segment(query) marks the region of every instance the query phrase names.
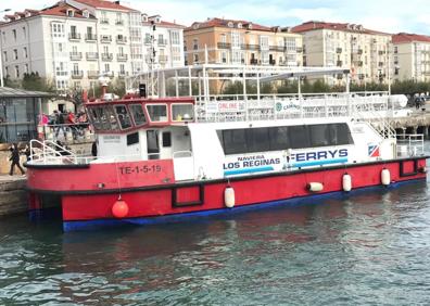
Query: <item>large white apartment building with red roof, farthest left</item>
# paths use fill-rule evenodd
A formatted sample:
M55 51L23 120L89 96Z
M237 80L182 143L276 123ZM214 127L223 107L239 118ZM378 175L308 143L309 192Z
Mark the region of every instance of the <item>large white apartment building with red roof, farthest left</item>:
M90 89L100 76L112 80L131 76L147 68L142 39L147 23L139 11L103 0L65 0L41 11L7 15L0 24L3 74L21 79L24 73L37 72L60 91ZM182 31L173 24L168 28ZM169 46L163 50L165 59L172 59L170 50Z

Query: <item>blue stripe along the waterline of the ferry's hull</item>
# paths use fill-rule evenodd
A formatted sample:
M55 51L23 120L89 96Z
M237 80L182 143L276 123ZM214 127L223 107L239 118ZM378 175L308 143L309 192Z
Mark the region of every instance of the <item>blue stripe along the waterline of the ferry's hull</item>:
M78 231L78 230L91 230L91 229L101 229L101 228L112 228L117 226L143 226L143 225L157 225L157 224L166 224L166 222L178 222L185 220L195 220L200 219L201 217L211 217L211 216L222 216L222 215L231 215L235 213L243 213L249 211L256 211L263 209L268 207L275 207L280 205L286 206L299 206L299 205L306 205L306 204L315 204L315 200L324 200L324 199L343 199L349 196L350 194L358 194L362 192L367 192L369 190L387 190L391 188L399 187L401 184L406 184L410 182L416 182L417 180L426 180L426 178L420 179L413 179L406 180L401 182L395 182L390 184L389 187L383 186L371 186L365 187L361 189L354 189L351 192L343 192L343 191L336 191L329 193L321 193L321 194L313 194L306 195L301 197L293 197L288 200L279 200L279 201L271 201L271 202L263 202L257 204L250 204L244 206L238 206L233 208L220 208L220 209L213 209L213 211L202 211L202 212L192 212L192 213L184 213L177 215L166 215L166 216L155 216L155 217L141 217L141 218L129 218L129 219L98 219L98 220L86 220L86 221L64 221L63 229L65 232L68 231Z

